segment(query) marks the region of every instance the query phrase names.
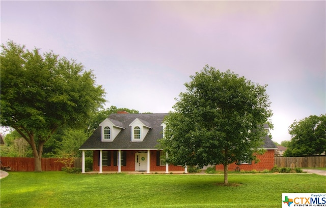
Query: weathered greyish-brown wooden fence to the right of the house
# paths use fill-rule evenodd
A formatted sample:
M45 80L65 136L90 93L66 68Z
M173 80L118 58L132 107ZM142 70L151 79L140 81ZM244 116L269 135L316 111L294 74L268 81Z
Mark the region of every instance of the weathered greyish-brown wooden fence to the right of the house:
M278 167L326 167L326 156L316 157L275 157L275 164Z

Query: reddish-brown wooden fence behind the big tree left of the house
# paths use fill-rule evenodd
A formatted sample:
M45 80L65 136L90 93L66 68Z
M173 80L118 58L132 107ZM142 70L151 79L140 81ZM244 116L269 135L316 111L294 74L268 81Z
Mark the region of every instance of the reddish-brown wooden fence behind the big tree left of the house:
M34 158L1 157L4 166L10 166L11 171L34 171ZM60 171L64 165L58 158L42 158L42 171Z

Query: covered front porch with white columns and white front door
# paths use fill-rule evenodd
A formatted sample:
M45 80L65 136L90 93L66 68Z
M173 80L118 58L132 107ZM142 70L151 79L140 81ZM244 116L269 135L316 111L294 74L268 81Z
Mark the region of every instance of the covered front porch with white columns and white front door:
M82 172L85 173L85 151L82 150ZM169 173L185 172L187 167L175 166L165 163L166 154L157 149L148 150L92 150L93 172L120 173L151 172Z

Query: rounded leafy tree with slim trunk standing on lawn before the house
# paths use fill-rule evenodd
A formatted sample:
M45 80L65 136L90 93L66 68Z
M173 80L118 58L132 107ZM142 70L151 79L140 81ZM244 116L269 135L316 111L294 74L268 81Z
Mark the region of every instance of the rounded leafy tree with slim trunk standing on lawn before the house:
M272 115L266 85L208 65L190 78L165 119L161 148L172 164L223 164L227 184L228 165L255 160L266 135L263 124Z

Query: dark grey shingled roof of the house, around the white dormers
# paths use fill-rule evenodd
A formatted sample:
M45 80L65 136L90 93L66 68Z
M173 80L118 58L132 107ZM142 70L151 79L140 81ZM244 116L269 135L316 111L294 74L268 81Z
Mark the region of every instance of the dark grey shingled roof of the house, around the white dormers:
M169 114L111 114L108 119L115 125L124 127L113 142L101 141L101 126L99 126L88 140L80 146L79 150L148 150L157 149L157 140L162 138L164 117ZM143 142L131 142L131 126L135 119L151 127ZM277 149L269 136L263 137L264 144L261 148Z

